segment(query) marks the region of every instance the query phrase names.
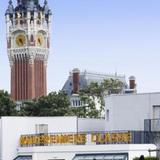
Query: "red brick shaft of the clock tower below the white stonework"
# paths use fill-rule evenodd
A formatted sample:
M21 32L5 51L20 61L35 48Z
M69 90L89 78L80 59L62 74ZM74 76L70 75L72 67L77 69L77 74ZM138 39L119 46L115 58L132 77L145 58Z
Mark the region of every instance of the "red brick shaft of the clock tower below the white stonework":
M27 58L15 59L11 67L11 96L15 101L46 95L46 66L43 60L30 63Z

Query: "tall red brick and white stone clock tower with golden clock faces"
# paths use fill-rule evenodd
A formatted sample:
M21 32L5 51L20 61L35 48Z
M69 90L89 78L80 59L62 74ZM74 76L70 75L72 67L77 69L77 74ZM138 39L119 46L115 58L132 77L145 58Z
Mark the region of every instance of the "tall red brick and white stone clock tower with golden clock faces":
M9 0L6 10L7 51L11 68L11 97L15 101L46 95L51 11L47 0Z

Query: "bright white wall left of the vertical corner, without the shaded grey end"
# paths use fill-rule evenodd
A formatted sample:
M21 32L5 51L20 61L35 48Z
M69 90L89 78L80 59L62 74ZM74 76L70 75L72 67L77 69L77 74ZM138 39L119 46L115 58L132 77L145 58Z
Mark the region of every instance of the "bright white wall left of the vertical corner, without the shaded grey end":
M2 160L17 155L19 138L35 134L36 124L48 124L48 132L76 132L76 117L2 117Z

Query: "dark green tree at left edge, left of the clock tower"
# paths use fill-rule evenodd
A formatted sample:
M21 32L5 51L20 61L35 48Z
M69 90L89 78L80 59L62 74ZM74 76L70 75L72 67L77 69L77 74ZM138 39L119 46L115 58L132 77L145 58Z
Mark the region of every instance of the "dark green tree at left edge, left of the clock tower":
M11 100L7 91L0 91L0 116L16 116L16 104Z

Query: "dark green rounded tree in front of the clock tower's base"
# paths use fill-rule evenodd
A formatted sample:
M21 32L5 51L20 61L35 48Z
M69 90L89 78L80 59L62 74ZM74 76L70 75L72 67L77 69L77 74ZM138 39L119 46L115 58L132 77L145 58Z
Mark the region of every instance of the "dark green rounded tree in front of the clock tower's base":
M66 93L51 92L47 96L25 102L21 108L23 116L65 116L69 110L69 99Z

